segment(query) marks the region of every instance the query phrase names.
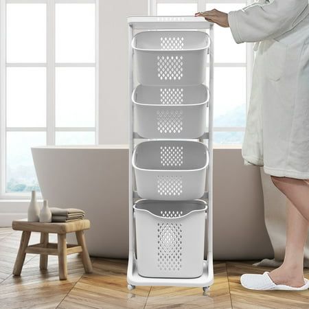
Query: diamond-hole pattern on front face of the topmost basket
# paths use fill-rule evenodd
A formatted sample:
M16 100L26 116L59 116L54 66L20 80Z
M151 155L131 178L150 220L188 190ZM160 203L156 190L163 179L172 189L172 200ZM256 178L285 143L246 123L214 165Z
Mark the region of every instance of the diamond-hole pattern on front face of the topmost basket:
M160 80L181 80L183 77L183 56L157 56L157 60Z

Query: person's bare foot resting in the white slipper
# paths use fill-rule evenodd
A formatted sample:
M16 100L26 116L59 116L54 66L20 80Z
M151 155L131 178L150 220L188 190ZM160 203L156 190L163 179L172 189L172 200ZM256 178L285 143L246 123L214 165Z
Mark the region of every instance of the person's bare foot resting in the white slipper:
M268 275L275 284L285 284L286 286L293 286L295 288L300 288L305 284L302 271L298 271L293 267L286 268L282 265L271 271Z

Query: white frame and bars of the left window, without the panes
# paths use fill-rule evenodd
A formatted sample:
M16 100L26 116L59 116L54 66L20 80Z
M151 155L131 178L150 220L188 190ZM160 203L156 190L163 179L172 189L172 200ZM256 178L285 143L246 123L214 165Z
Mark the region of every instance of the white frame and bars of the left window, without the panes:
M47 12L47 55L45 63L7 63L6 62L6 3L45 3ZM95 62L56 63L55 62L55 7L56 3L94 3L95 4ZM45 67L47 78L46 127L7 128L5 111L5 71L6 67ZM95 67L95 126L93 127L56 127L55 124L55 68L56 67ZM6 133L46 132L47 146L55 144L56 132L94 132L98 144L99 121L99 0L0 0L0 199L25 199L28 192L6 191Z

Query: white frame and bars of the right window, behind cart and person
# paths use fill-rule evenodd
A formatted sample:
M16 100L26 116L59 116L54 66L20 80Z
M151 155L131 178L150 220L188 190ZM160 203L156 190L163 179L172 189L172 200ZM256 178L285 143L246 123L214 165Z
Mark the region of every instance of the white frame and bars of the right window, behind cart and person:
M253 3L253 0L148 0L148 14L157 15L157 4L158 3L196 3L198 12L202 12L206 8L206 4L227 4L227 3L244 3L247 2L247 5ZM216 40L216 38L215 38ZM247 87L246 87L246 110L249 108L250 94L251 94L251 84L252 84L252 71L253 71L253 61L254 61L254 52L253 52L253 43L244 43L247 44L247 59L246 62L215 62L214 67L245 67L247 69ZM216 52L216 51L215 51ZM247 113L246 113L247 117ZM243 127L214 127L214 132L244 132ZM216 146L229 148L233 145L219 145ZM235 146L235 145L234 145ZM241 148L240 144L236 144ZM235 147L233 147L235 148Z

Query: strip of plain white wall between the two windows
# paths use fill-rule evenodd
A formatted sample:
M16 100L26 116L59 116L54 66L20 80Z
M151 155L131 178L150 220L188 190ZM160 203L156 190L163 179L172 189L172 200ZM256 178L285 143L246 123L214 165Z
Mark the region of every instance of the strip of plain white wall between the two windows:
M147 0L100 1L99 144L128 144L129 15L146 15Z

